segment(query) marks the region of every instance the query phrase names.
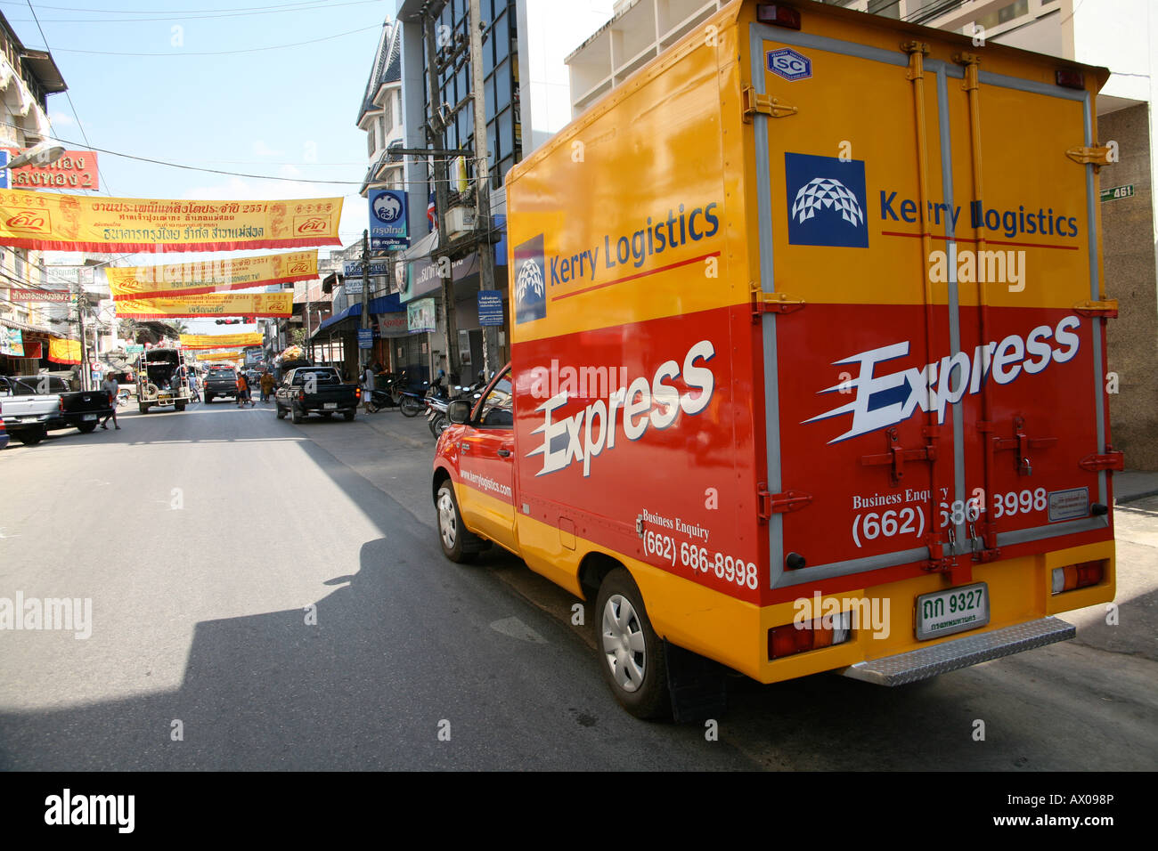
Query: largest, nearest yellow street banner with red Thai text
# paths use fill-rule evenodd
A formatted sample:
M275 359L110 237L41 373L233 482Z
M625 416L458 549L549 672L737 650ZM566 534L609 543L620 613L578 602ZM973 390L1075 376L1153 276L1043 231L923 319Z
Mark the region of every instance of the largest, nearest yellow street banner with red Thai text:
M340 245L340 198L166 200L0 191L0 245L56 251L239 251Z

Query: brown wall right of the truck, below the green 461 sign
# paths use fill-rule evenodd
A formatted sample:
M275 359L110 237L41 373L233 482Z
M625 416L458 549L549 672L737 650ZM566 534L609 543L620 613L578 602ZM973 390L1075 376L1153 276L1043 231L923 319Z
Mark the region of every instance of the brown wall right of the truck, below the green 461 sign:
M1111 435L1131 470L1158 470L1158 281L1150 176L1149 104L1100 116L1098 137L1113 139L1120 162L1101 169L1102 189L1134 184L1133 198L1100 204L1106 293L1119 301L1107 325L1108 368L1119 375L1109 397Z

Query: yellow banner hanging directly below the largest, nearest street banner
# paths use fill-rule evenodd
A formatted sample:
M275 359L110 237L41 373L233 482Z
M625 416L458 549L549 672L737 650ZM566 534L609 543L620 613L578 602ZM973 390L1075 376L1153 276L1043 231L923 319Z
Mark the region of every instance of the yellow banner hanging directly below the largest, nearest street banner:
M104 270L115 301L223 293L317 277L317 249Z

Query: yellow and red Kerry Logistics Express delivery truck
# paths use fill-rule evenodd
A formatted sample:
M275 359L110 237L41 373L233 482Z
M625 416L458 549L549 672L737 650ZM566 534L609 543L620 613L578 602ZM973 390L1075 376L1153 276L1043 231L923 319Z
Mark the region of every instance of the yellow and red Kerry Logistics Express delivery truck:
M677 656L900 684L1072 637L1122 467L1106 78L723 8L507 175L512 364L448 412L446 553L594 601L640 717Z

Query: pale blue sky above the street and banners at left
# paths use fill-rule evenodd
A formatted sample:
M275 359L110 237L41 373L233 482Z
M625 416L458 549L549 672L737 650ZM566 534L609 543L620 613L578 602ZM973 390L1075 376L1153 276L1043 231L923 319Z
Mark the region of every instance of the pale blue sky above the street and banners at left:
M367 226L366 200L358 196L368 164L366 133L357 119L394 9L394 0L31 0L31 9L28 0L0 0L24 46L50 50L68 86L68 95L49 95L53 133L68 148L277 178L98 153L100 195L344 196L343 244ZM321 249L323 257L328 250ZM206 257L127 259L145 265ZM198 332L247 328L186 322Z

